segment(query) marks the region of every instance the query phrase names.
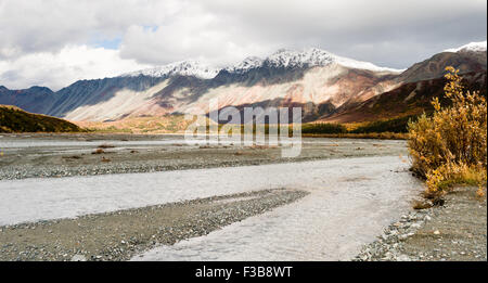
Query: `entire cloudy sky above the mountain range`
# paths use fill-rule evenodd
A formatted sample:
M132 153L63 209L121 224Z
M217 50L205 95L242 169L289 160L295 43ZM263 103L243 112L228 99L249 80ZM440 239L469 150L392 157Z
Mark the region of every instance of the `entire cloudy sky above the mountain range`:
M0 86L57 90L187 59L318 47L406 68L487 37L486 0L0 0Z

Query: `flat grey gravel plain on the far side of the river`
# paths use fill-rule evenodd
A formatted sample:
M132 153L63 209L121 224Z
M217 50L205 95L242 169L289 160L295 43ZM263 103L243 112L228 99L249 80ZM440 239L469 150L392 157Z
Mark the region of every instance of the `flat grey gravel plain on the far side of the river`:
M404 144L400 140L304 138L299 156L282 158L286 145L205 145L187 143L182 136L0 134L0 180L404 156Z

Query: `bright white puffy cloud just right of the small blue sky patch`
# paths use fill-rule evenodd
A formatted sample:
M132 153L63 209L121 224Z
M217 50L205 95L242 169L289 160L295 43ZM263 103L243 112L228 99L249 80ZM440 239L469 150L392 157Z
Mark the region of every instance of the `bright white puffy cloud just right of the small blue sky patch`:
M155 29L131 26L124 37L121 55L149 64L195 59L222 66L248 55L265 55L273 46L259 44L248 38L233 37L229 30L211 28L219 22L203 14L191 17L191 21L177 18Z

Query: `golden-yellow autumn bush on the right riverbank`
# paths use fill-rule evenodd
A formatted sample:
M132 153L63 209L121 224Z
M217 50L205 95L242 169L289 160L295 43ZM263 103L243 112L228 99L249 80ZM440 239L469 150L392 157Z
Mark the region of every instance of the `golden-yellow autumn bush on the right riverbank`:
M447 67L445 94L452 102L410 123L408 146L412 169L426 178L427 195L438 196L452 184L476 184L487 180L487 104L479 91L465 91L459 70ZM478 192L479 193L479 192Z

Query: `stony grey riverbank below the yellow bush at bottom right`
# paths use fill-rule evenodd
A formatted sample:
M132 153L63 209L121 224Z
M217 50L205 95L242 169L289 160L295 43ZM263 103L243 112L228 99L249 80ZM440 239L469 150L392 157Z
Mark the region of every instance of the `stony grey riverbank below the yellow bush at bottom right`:
M457 188L441 206L414 210L384 229L354 261L487 260L487 201Z

